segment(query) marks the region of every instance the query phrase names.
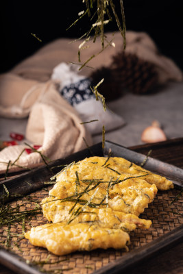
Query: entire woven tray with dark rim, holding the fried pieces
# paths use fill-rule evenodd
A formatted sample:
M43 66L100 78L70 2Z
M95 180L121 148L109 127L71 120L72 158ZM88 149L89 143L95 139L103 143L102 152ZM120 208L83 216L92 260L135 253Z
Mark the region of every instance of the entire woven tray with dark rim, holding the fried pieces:
M125 155L125 158L131 157L134 162L141 164L143 162L145 155L136 154L133 151L131 152L129 149L125 149L121 146L112 144L111 142L106 142L106 149L104 153L108 153L109 149L112 149L114 155L118 155L121 153L121 150ZM91 148L96 155L102 155L101 144L95 145ZM133 154L134 153L134 154ZM73 162L73 160L80 160L82 158L90 156L90 151L88 149L84 151L80 151L80 153L75 153L74 155L69 156L64 160L57 160L54 164L58 165L60 163L69 163ZM119 155L123 157L124 155ZM140 161L140 162L138 162ZM154 164L152 164L154 159L149 158L146 164L149 164L152 168ZM154 162L153 162L154 163ZM177 174L173 173L173 177L175 177L176 183L182 182L183 171L182 169L177 169L175 166L169 166L169 164L164 164L162 162L156 162L156 166L158 166L159 172L163 173L167 171L168 175L172 176L172 172L174 170L178 171ZM145 166L147 168L147 166ZM149 169L151 170L151 169ZM56 171L57 172L57 171ZM14 179L7 180L3 182L7 188L10 188L11 192L17 191L17 187L21 186L18 190L21 194L25 194L28 192L32 192L43 186L43 182L50 177L50 171L47 167L40 167L34 171L30 171L24 175L19 175ZM156 173L158 173L156 168ZM176 176L175 176L176 175ZM34 184L31 187L25 181ZM2 184L2 183L1 183ZM1 188L2 191L2 188ZM151 219L153 225L152 227L146 231L142 229L136 229L134 232L130 234L131 238L131 245L130 245L130 252L125 253L124 250L113 250L108 249L107 251L103 250L96 250L92 252L77 252L73 253L69 256L53 256L51 255L49 258L49 262L56 262L61 259L66 259L64 262L60 262L60 264L47 264L45 265L45 270L49 271L51 269L69 269L67 273L118 273L119 270L127 268L129 264L135 264L147 256L152 256L156 252L160 251L167 245L172 245L178 240L181 240L183 237L182 233L182 203L183 197L182 194L175 200L173 203L173 199L177 197L180 193L179 189L168 190L166 192L158 192L158 195L154 199L154 202L149 205L149 208L145 210L145 212L141 215L144 219ZM41 201L45 196L47 196L47 190L37 190L36 192L32 193L31 201L27 200L27 198L21 199L19 201L11 202L11 206L16 206L17 204L24 205L22 206L22 210L25 208L31 209L35 206L34 199ZM24 201L23 201L24 200ZM42 214L38 216L38 218L33 218L30 223L26 224L26 229L29 229L30 225L40 225L45 223L46 220L42 217ZM0 230L0 241L5 242L7 239L7 230L8 227L3 227ZM11 227L12 235L21 234L22 233L22 225L16 225L15 227ZM14 234L13 234L14 233ZM38 260L45 260L47 258L49 252L45 249L33 247L29 244L29 242L25 239L18 242L19 237L13 236L11 238L10 245L12 247L12 251L16 253L20 258L23 260L29 261L38 261ZM15 243L19 243L18 245L14 245ZM140 248L139 248L140 247ZM0 262L1 264L5 264L9 266L16 272L19 273L38 273L38 270L35 266L30 267L29 265L25 264L24 262L19 262L19 260L14 257L12 260L12 255L8 251L5 253L2 249L0 250ZM36 271L36 272L35 272Z

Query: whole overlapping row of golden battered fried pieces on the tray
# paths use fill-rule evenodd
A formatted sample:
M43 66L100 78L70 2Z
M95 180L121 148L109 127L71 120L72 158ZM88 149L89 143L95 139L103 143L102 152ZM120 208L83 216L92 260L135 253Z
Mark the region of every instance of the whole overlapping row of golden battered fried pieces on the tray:
M42 200L43 214L51 223L32 227L25 238L56 255L127 248L130 231L151 226L138 216L157 190L173 188L165 177L117 157L73 162L51 179L56 184Z

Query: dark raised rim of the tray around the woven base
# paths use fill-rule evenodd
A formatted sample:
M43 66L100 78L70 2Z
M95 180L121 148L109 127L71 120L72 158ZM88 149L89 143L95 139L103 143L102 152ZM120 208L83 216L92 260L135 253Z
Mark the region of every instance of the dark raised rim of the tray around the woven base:
M94 145L93 147L89 147L77 153L73 153L66 158L55 160L49 164L49 168L48 166L40 166L37 169L28 171L26 173L23 173L22 175L18 175L16 177L13 177L12 179L7 179L1 182L0 200L2 201L2 199L4 199L3 184L6 186L6 188L8 188L9 191L9 197L5 198L3 202L10 202L15 199L14 197L12 197L12 194L14 193L18 195L28 195L42 187L45 187L45 181L49 180L52 175L50 169L51 167L56 167L61 164L69 164L73 161L77 162L92 155L107 156L110 151L112 151L112 156L125 158L126 160L134 162L138 165L141 165L141 163L146 160L145 165L143 166L145 169L159 175L164 175L165 177L167 177L167 179L171 179L173 181L175 188L182 189L182 169L171 164L166 164L151 157L147 158L146 155L137 153L135 151L122 147L121 145L106 141L104 149L102 149L101 143L99 143L97 145ZM54 169L54 173L57 173L58 171L60 171L60 168L56 167ZM134 264L138 264L139 262L142 262L147 258L155 256L156 253L161 252L167 247L175 245L181 240L183 240L183 225L180 224L178 227L175 227L175 229L171 230L170 232L167 232L164 235L156 238L156 240L152 240L142 247L131 250L129 253L125 253L125 255L123 255L122 257L114 260L114 262L110 262L106 266L102 266L101 268L95 270L93 274L121 273L121 271L124 271L127 268L134 266ZM42 273L38 270L38 268L36 268L36 266L26 264L23 257L7 251L3 247L0 247L0 263L12 269L12 271L16 271L16 273Z

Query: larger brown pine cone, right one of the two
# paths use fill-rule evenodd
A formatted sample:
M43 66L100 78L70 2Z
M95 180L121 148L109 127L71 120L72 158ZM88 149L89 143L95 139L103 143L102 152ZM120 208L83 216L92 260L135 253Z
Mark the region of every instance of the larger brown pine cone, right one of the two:
M156 87L158 73L154 64L124 51L114 55L112 59L113 82L117 82L119 86L136 94L150 92Z

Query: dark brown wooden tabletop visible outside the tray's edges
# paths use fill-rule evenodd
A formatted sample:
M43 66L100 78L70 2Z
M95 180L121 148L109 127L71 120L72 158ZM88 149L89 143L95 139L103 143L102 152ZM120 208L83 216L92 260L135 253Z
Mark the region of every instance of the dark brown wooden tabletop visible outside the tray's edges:
M183 138L172 139L151 145L139 145L130 149L147 155L151 149L151 157L174 164L183 169ZM183 232L182 232L183 233ZM124 274L182 274L183 273L183 242L171 249L159 253L156 257L146 260ZM0 274L14 274L0 264Z

